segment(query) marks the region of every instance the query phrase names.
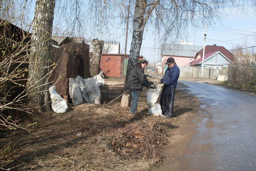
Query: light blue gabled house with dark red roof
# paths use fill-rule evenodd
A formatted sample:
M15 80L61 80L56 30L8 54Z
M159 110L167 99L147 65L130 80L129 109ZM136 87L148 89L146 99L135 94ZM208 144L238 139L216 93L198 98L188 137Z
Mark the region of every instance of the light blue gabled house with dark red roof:
M191 67L201 67L203 59L203 49L197 52L195 60L189 63ZM222 69L227 67L234 60L234 56L226 48L222 46L205 47L204 67Z

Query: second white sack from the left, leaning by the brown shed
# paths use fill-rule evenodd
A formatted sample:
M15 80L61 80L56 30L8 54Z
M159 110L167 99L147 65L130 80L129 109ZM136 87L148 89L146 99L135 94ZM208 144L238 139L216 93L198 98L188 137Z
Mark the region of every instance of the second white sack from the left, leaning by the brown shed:
M73 105L82 104L82 93L76 81L73 78L69 78L69 95L73 100Z

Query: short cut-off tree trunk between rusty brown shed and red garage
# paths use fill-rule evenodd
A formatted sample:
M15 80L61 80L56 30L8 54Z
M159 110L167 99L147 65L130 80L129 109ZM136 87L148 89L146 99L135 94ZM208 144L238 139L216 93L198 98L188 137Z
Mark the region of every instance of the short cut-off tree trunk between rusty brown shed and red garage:
M103 46L104 46L103 40L98 40L97 38L93 39L93 57L92 57L91 66L90 66L91 77L94 77L99 73L100 59L101 59Z

